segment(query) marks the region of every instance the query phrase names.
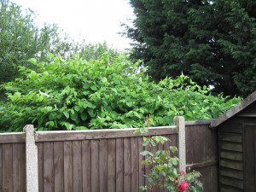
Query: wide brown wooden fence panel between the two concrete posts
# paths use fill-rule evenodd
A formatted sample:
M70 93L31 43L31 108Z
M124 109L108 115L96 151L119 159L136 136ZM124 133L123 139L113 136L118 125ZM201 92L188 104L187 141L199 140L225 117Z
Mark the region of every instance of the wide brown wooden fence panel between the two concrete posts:
M145 134L136 135L134 129L96 132L36 132L41 170L38 178L43 180L39 181L40 192L139 191L145 181L139 154ZM150 135L164 135L177 141L177 127L150 129Z

